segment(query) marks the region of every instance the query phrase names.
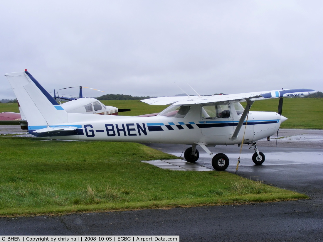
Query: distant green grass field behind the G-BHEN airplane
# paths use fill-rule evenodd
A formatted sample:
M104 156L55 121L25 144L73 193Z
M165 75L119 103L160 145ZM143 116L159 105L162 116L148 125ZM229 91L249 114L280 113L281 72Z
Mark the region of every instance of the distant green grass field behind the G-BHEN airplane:
M166 106L148 105L139 100L115 100L102 101L103 104L118 108L130 108L130 112L122 112L119 115L136 116L142 114L161 112ZM256 101L252 111L277 112L278 99ZM1 112L19 112L18 104L0 104ZM287 117L282 128L298 129L323 129L323 98L284 98L282 115Z

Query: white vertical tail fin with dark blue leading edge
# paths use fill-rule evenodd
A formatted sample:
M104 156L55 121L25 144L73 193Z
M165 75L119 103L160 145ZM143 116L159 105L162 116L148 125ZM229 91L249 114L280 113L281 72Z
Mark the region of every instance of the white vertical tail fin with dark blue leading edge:
M25 70L5 74L33 131L68 122L68 114L36 79ZM31 105L34 103L35 105Z

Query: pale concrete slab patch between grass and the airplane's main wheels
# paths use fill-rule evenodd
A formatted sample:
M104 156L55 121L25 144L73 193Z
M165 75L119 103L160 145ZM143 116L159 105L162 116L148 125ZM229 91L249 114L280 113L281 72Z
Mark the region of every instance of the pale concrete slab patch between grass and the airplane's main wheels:
M205 166L195 163L185 162L181 159L175 160L142 160L141 162L157 166L162 169L176 170L176 171L214 171Z

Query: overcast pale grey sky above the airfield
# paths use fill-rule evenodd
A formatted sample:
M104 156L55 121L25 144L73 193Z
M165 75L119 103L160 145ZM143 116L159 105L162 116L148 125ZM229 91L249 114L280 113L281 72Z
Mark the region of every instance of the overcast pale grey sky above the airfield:
M323 91L322 1L1 1L3 74L28 69L49 92L200 95ZM62 90L78 95L78 90Z

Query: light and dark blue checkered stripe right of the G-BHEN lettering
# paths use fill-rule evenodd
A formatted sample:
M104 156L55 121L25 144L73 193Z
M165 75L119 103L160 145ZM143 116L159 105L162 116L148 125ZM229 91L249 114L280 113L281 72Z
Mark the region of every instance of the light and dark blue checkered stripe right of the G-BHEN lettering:
M258 125L258 124L276 124L279 122L279 119L276 120L259 120L259 121L248 121L247 125ZM232 121L232 122L199 122L195 124L194 122L188 122L189 124L185 124L184 122L178 122L178 124L175 123L148 123L147 127L149 131L164 131L162 126L165 126L168 130L182 130L185 129L186 126L189 129L194 129L193 125L196 125L198 128L214 128L214 127L228 127L228 126L237 126L238 121ZM244 122L243 125L246 125L246 122Z

